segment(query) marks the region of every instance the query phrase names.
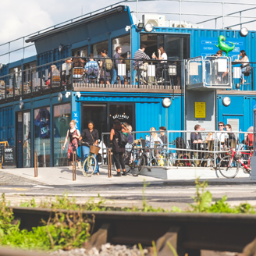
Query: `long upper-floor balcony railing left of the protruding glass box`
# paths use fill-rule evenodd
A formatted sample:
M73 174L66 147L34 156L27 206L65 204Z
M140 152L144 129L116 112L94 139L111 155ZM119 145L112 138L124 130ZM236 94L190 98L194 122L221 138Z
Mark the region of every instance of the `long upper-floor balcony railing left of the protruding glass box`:
M76 66L74 59L80 59ZM137 89L180 89L181 62L150 59L146 62L137 59L73 57L72 63L66 59L20 70L0 76L0 98L16 100L26 95L37 97L48 91L64 91L68 86L74 90L88 87L137 88ZM112 64L109 64L111 61ZM114 67L114 62L120 62ZM116 74L114 74L114 72ZM116 80L113 80L113 76Z

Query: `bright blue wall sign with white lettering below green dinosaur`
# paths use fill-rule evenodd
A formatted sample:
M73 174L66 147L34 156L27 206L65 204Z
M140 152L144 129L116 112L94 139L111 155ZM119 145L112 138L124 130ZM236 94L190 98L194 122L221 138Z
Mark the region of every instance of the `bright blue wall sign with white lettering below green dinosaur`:
M240 54L240 51L246 50L245 40L244 38L226 37L226 41L224 43L231 47L233 44L229 44L229 42L235 44L233 51L229 52L229 57L232 61L235 61L235 59L237 59L237 55ZM200 55L205 57L216 54L216 52L219 51L219 47L216 46L218 44L219 37L200 37ZM225 52L223 52L223 56L226 56Z

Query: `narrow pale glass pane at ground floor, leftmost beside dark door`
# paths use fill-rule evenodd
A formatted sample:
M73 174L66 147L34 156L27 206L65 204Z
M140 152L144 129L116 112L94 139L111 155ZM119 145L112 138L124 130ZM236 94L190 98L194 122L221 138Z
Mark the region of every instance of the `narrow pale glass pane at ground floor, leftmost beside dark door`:
M30 141L31 141L31 130L30 130L30 112L23 113L23 167L30 167L31 154L30 154Z

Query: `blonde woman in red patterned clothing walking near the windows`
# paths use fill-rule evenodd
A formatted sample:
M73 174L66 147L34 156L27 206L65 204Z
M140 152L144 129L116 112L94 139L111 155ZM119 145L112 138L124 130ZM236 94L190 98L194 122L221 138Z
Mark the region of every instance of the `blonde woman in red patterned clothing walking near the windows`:
M71 165L69 165L69 169L73 169L73 151L77 151L80 131L76 129L76 122L74 120L72 120L69 123L69 126L70 126L70 129L66 133L66 139L63 144L62 150L66 148L66 143L69 140L68 161L69 163L71 162ZM78 155L76 155L76 162L77 162L78 168L81 168L81 162Z

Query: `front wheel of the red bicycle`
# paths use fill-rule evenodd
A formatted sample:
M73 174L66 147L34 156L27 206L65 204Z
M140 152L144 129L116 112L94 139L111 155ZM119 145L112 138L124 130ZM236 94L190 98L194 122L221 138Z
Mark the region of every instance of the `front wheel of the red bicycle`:
M221 158L219 161L219 172L225 178L234 178L239 171L239 165L236 160L227 155L224 158Z

